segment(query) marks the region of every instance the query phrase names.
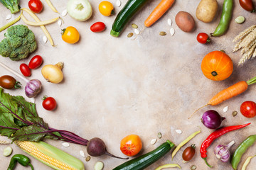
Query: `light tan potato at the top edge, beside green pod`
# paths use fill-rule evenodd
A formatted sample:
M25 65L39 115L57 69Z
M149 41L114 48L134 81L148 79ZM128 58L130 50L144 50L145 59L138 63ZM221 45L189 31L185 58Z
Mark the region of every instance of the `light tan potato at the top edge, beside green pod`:
M213 21L218 10L218 2L216 0L201 0L196 8L196 18L204 23Z

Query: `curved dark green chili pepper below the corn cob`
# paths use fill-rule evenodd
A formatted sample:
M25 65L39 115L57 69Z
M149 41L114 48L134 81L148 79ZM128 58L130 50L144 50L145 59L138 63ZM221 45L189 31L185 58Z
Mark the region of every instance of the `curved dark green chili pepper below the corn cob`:
M7 170L13 170L17 162L22 166L31 166L31 169L33 170L33 166L30 164L30 159L23 154L15 154L13 157L11 157L11 162Z

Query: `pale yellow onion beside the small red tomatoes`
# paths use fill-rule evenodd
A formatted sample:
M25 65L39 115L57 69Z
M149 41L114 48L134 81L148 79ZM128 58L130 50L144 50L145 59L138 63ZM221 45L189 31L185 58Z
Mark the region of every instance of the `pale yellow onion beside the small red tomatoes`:
M63 81L63 72L61 71L61 69L63 69L63 64L63 62L58 62L55 65L45 65L41 72L46 81L54 84L58 84Z

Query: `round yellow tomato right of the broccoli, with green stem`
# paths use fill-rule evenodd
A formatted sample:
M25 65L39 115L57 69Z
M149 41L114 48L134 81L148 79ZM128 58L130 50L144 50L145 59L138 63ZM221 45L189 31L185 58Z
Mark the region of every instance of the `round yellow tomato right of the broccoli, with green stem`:
M61 33L61 38L65 42L74 44L75 42L78 42L80 34L78 33L78 30L76 28L74 28L73 26L69 26L63 29L63 32Z

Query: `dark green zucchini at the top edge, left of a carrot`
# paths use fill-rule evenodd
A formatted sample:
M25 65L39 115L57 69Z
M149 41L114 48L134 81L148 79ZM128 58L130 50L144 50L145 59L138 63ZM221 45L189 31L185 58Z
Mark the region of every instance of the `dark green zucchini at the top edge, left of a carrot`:
M146 1L149 0L128 0L124 8L122 8L122 10L117 14L117 18L114 20L110 35L118 37L129 19L132 18L132 16L134 16L134 14L139 11L144 4L146 4Z

